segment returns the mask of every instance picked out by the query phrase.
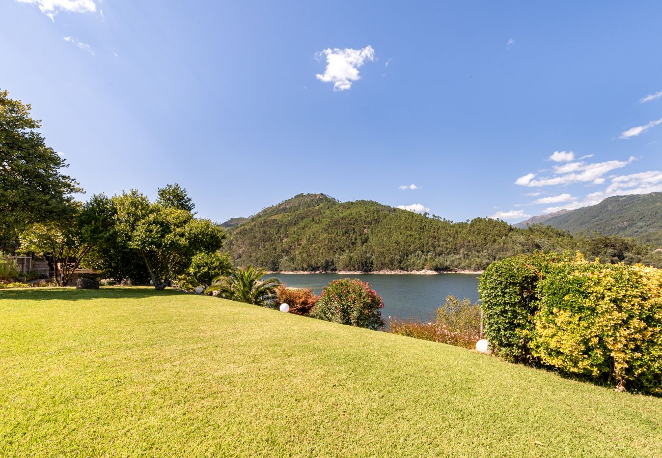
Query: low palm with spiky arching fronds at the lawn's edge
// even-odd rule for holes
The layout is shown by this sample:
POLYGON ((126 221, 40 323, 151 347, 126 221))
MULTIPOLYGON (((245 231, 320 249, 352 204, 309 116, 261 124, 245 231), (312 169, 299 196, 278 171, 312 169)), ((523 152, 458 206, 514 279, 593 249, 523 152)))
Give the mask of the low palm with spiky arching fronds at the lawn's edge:
POLYGON ((247 304, 268 305, 276 298, 276 288, 281 281, 276 278, 261 280, 265 273, 265 269, 256 269, 252 265, 244 269, 235 267, 232 273, 214 278, 207 293, 218 291, 222 298, 247 304))

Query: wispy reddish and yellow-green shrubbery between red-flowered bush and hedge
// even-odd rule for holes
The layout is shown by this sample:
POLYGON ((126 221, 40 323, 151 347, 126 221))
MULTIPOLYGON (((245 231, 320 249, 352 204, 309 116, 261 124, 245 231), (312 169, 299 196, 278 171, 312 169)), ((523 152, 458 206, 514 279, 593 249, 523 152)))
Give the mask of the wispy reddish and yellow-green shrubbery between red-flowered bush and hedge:
POLYGON ((420 320, 398 320, 389 322, 389 332, 416 339, 432 340, 458 347, 473 348, 481 338, 481 309, 465 298, 459 300, 449 295, 446 304, 434 312, 434 318, 422 323, 420 320))

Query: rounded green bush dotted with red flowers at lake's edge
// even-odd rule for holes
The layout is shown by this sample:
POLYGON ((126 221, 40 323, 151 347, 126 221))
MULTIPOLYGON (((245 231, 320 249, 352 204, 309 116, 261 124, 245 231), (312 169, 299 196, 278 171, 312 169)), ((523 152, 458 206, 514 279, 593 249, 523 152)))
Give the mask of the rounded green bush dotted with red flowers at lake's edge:
POLYGON ((334 323, 377 330, 384 326, 384 302, 369 283, 359 279, 334 280, 322 291, 310 316, 334 323))

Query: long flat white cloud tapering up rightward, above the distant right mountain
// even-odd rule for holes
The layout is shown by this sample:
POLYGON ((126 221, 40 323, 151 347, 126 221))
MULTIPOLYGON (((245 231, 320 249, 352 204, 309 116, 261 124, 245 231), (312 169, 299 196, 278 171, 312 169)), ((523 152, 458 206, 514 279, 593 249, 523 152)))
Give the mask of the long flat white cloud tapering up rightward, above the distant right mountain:
POLYGON ((636 158, 630 157, 627 161, 569 162, 554 166, 556 176, 534 179, 536 174, 528 173, 523 177, 519 177, 515 184, 528 187, 567 185, 569 183, 593 183, 598 185, 604 183, 603 175, 614 169, 625 167, 634 160, 636 158))

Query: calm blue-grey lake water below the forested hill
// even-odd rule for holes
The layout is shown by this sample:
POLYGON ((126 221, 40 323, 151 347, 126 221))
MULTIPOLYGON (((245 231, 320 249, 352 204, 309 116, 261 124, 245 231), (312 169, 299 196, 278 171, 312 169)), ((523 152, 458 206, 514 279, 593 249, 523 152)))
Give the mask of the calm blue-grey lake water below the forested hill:
POLYGON ((428 319, 428 313, 443 305, 446 296, 453 295, 469 298, 472 302, 478 300, 477 274, 444 273, 440 275, 386 275, 361 274, 337 275, 334 273, 311 274, 273 274, 267 278, 276 277, 289 287, 311 288, 315 294, 322 293, 330 281, 343 278, 359 278, 372 285, 384 299, 383 318, 397 316, 398 318, 428 319))

